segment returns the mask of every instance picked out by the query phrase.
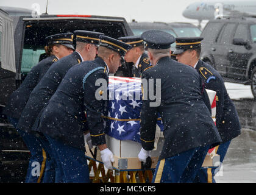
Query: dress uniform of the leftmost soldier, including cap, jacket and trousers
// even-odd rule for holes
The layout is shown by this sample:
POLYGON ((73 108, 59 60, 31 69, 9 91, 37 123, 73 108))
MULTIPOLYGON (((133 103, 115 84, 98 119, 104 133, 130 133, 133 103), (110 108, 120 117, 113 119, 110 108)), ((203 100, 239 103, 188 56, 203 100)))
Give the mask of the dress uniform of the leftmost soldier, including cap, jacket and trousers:
MULTIPOLYGON (((46 44, 51 45, 51 40, 53 37, 67 38, 71 35, 72 34, 57 34, 52 35, 50 37, 46 37, 46 44)), ((68 48, 74 49, 72 41, 65 41, 65 43, 62 44, 68 48)), ((4 113, 5 115, 7 115, 9 121, 13 124, 14 127, 17 126, 17 123, 21 118, 21 113, 23 112, 24 107, 27 104, 31 91, 34 90, 35 86, 44 76, 46 71, 48 71, 52 63, 57 62, 57 60, 58 58, 55 57, 55 55, 50 55, 46 59, 41 60, 40 63, 38 63, 30 70, 29 74, 27 74, 26 78, 24 79, 23 83, 21 83, 20 87, 16 91, 14 91, 10 96, 10 100, 7 106, 5 107, 4 113)), ((24 132, 19 128, 16 128, 16 130, 18 130, 18 132, 20 133, 21 137, 23 138, 24 142, 26 143, 26 146, 28 147, 31 153, 31 157, 29 160, 29 168, 27 169, 27 176, 25 182, 40 182, 40 180, 43 180, 43 182, 51 181, 51 179, 49 178, 49 175, 52 174, 51 171, 45 172, 43 179, 41 179, 41 177, 38 176, 38 174, 32 176, 31 172, 33 169, 33 162, 37 161, 38 163, 40 163, 40 166, 44 166, 42 155, 44 154, 44 151, 42 151, 41 147, 37 144, 37 138, 34 135, 32 135, 31 133, 24 132)), ((49 161, 46 162, 49 163, 49 161)))

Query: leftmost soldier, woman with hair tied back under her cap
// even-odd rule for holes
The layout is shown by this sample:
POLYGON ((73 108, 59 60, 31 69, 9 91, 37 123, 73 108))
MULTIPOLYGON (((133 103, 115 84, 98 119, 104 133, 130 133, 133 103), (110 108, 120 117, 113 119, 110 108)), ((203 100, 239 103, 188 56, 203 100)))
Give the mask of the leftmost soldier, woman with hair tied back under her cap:
MULTIPOLYGON (((71 39, 73 34, 71 33, 64 33, 64 34, 56 34, 46 37, 46 46, 44 47, 46 54, 48 57, 34 66, 31 71, 27 74, 26 78, 24 79, 23 83, 21 83, 20 87, 12 93, 10 96, 9 102, 5 107, 4 113, 9 118, 9 121, 16 127, 20 117, 21 112, 23 111, 31 91, 35 88, 37 83, 41 80, 44 76, 48 68, 52 65, 52 63, 57 62, 58 59, 62 59, 66 55, 69 55, 73 52, 73 40, 71 39), (52 40, 61 40, 59 43, 53 43, 52 40), (66 40, 68 39, 68 40, 66 40)), ((32 135, 31 133, 27 133, 21 131, 20 129, 16 128, 16 130, 20 133, 21 137, 23 138, 26 146, 30 150, 31 157, 29 160, 29 168, 27 169, 27 176, 26 176, 26 183, 30 182, 40 182, 41 174, 40 171, 38 173, 35 171, 35 174, 31 174, 32 172, 32 163, 38 162, 40 166, 42 166, 43 162, 43 153, 41 147, 37 144, 37 138, 32 135)), ((40 170, 40 169, 39 169, 40 170)), ((49 170, 49 169, 48 169, 49 170)), ((44 177, 42 182, 49 182, 51 181, 51 171, 44 172, 44 177)))

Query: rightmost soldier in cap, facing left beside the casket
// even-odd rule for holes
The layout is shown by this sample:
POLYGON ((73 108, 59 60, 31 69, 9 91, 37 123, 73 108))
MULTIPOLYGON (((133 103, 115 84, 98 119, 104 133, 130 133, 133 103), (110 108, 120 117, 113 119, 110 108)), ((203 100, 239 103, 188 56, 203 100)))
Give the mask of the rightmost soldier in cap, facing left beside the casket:
MULTIPOLYGON (((205 82, 205 88, 216 91, 216 127, 219 130, 223 143, 216 146, 216 154, 220 155, 220 162, 226 155, 230 141, 240 135, 241 126, 235 105, 227 94, 224 80, 211 65, 199 60, 201 54, 202 37, 176 38, 177 60, 185 65, 192 66, 205 82)), ((214 182, 216 168, 201 168, 197 172, 194 182, 214 182)))

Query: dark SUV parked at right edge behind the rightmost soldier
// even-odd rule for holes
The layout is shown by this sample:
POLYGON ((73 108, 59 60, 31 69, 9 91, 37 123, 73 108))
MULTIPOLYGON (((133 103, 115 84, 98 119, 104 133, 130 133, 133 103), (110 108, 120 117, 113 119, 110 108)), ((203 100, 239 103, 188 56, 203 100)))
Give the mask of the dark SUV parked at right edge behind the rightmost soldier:
POLYGON ((251 84, 256 98, 256 18, 210 20, 201 37, 201 59, 212 65, 225 81, 251 84))

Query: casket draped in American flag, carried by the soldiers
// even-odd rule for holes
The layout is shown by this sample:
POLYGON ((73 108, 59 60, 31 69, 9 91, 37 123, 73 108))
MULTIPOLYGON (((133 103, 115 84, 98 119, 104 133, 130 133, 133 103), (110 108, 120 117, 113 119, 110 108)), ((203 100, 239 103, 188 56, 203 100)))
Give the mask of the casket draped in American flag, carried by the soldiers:
MULTIPOLYGON (((113 168, 122 171, 141 170, 141 161, 138 153, 141 150, 140 143, 140 110, 141 110, 141 79, 130 77, 110 77, 108 90, 110 98, 105 110, 105 139, 108 149, 113 152, 115 162, 113 168)), ((216 92, 207 90, 212 104, 212 118, 215 121, 216 92)), ((162 151, 165 138, 163 136, 163 124, 158 118, 155 132, 155 147, 151 152, 151 169, 157 165, 158 157, 162 151)), ((86 156, 102 162, 99 150, 96 156, 93 153, 95 147, 89 150, 87 143, 86 156)), ((215 149, 209 150, 202 166, 218 166, 219 155, 215 149)))

